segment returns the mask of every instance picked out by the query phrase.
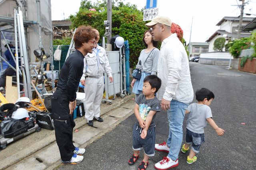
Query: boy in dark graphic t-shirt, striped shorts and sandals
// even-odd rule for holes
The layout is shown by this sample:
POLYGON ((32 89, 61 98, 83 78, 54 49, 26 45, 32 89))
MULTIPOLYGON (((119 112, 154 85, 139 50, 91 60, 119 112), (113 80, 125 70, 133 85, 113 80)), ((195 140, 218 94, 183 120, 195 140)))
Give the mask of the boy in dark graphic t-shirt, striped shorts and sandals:
POLYGON ((134 114, 137 121, 133 128, 132 148, 134 154, 128 164, 133 165, 139 158, 140 149, 144 148, 144 158, 138 166, 138 170, 148 167, 149 156, 155 155, 156 124, 154 119, 156 112, 160 111, 160 102, 154 95, 161 87, 161 79, 156 75, 148 75, 144 78, 142 93, 136 98, 134 114))

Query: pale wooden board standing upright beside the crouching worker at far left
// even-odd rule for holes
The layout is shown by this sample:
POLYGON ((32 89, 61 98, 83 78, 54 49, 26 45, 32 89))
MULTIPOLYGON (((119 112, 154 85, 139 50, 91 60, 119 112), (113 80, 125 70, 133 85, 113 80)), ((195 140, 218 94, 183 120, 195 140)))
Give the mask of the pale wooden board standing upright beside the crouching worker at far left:
POLYGON ((12 86, 12 76, 6 76, 5 98, 14 104, 18 99, 18 87, 12 86))

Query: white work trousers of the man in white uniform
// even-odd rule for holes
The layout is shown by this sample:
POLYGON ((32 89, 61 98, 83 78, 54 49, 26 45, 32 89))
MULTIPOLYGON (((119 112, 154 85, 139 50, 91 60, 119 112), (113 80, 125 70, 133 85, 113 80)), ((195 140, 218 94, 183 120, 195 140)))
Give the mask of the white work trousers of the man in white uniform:
POLYGON ((100 103, 104 91, 104 77, 86 77, 85 93, 85 118, 92 121, 93 117, 100 117, 100 103))

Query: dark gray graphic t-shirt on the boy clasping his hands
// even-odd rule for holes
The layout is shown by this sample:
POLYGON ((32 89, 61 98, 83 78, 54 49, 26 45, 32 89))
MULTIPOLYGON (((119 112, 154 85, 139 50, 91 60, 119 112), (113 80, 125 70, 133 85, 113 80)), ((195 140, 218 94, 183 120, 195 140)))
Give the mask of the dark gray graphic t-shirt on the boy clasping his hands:
MULTIPOLYGON (((160 102, 156 97, 146 100, 146 96, 144 94, 140 94, 139 97, 136 98, 136 103, 139 105, 140 117, 143 120, 146 120, 146 117, 148 116, 148 113, 150 111, 160 112, 160 102)), ((148 128, 156 126, 154 122, 155 117, 156 114, 154 114, 151 124, 148 128)), ((136 121, 136 124, 138 125, 138 127, 140 127, 138 120, 136 121)))

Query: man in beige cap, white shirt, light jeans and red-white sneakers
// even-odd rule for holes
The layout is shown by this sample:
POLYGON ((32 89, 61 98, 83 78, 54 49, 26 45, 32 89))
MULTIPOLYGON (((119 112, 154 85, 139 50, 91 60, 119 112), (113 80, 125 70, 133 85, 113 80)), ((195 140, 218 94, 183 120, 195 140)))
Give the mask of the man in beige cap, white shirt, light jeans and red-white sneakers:
POLYGON ((169 136, 167 143, 155 144, 155 149, 169 153, 155 164, 158 170, 167 170, 178 166, 178 154, 182 144, 182 125, 185 109, 192 102, 192 88, 188 55, 184 45, 171 33, 172 22, 166 16, 156 16, 146 26, 152 30, 154 41, 161 41, 157 75, 162 80, 157 97, 161 108, 167 111, 169 136))

